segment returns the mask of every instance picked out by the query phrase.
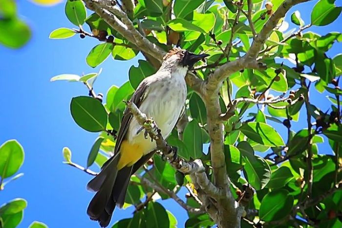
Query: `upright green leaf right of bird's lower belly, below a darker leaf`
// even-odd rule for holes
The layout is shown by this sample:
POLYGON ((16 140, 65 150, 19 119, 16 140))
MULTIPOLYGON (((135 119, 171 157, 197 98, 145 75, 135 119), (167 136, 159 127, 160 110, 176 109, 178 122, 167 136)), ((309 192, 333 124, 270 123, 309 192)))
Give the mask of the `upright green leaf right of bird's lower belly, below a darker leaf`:
POLYGON ((202 131, 198 126, 198 122, 193 119, 187 124, 183 132, 183 141, 186 142, 186 147, 190 157, 199 159, 203 154, 202 131))

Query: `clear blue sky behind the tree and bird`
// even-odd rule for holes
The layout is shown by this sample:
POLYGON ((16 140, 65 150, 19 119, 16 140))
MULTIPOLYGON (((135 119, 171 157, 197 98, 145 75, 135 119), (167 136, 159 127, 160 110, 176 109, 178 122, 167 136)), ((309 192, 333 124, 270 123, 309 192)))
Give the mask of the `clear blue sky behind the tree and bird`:
MULTIPOLYGON (((306 23, 310 22, 309 12, 315 3, 296 7, 302 9, 306 23)), ((337 0, 336 4, 342 5, 342 0, 337 0)), ((64 15, 64 3, 40 7, 21 0, 18 8, 21 18, 31 26, 33 37, 19 50, 0 46, 0 144, 12 138, 22 144, 25 161, 20 171, 25 175, 6 185, 0 192, 0 204, 17 197, 28 201, 20 228, 28 227, 34 220, 44 222, 50 228, 97 228, 98 224, 90 221, 85 213, 93 195, 85 189, 91 177, 62 163, 62 148, 68 146, 73 152, 72 159, 85 165, 97 136, 78 127, 69 111, 70 99, 86 95, 87 91, 80 83, 51 83, 49 80, 57 74, 97 72, 101 67, 103 72, 95 89, 106 94, 111 85, 120 86, 128 80, 128 69, 136 65, 138 58, 126 62, 108 58, 100 67, 92 69, 86 65, 85 57, 98 44, 97 40, 81 40, 78 36, 66 40, 48 39, 49 33, 56 28, 74 27, 64 15)), ((341 23, 340 17, 329 26, 313 27, 312 30, 319 34, 341 32, 341 23)), ((335 44, 333 49, 329 57, 341 52, 342 46, 335 44)), ((330 106, 324 96, 314 99, 323 110, 330 106)), ((328 153, 331 151, 327 146, 322 148, 328 153)), ((184 191, 180 196, 184 196, 184 191)), ((170 200, 164 202, 178 218, 179 227, 184 227, 185 211, 170 200)), ((132 208, 117 209, 112 224, 130 217, 131 212, 132 208)))

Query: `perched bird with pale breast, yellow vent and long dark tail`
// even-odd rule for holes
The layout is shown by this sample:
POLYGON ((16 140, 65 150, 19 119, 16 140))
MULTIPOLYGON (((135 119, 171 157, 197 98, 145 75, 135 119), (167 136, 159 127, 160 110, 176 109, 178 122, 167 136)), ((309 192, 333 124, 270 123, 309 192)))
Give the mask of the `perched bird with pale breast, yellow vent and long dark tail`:
MULTIPOLYGON (((133 93, 130 102, 152 118, 163 138, 167 138, 184 111, 187 97, 185 76, 189 69, 208 54, 193 54, 179 47, 163 58, 158 71, 145 78, 133 93)), ((126 108, 117 134, 114 155, 102 166, 100 173, 87 183, 96 192, 87 214, 101 227, 110 223, 116 206, 122 208, 130 176, 153 156, 155 141, 145 137, 141 126, 126 108)))

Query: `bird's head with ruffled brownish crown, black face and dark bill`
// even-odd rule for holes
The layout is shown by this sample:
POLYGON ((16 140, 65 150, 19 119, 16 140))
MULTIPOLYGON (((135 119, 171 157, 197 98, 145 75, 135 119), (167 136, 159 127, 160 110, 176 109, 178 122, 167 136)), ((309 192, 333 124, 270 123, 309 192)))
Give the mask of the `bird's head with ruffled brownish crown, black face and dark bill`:
POLYGON ((209 56, 208 54, 193 54, 185 49, 175 47, 164 56, 164 67, 175 66, 190 69, 199 60, 209 56))

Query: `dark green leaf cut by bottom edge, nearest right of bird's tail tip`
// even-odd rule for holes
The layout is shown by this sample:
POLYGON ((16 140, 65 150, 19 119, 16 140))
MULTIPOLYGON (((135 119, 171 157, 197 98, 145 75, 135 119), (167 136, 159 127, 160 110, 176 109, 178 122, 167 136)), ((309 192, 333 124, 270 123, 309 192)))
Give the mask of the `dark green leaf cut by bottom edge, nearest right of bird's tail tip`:
POLYGON ((170 228, 168 213, 164 206, 157 202, 149 202, 146 213, 146 221, 149 227, 153 228, 170 228))

